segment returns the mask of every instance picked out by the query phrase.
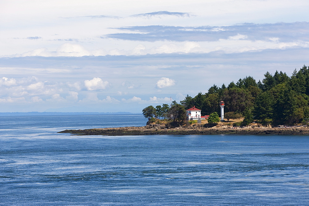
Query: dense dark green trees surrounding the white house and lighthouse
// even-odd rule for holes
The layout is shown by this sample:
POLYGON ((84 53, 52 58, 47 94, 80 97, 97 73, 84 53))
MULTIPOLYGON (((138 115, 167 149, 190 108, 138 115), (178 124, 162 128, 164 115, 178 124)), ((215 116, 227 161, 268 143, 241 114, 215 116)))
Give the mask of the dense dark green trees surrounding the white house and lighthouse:
POLYGON ((264 77, 258 82, 252 76, 246 76, 227 86, 214 84, 207 93, 200 92, 195 97, 187 95, 180 104, 174 101, 171 107, 167 104, 157 106, 152 117, 171 118, 171 108, 175 110, 176 105, 182 114, 175 121, 185 120, 186 109, 193 106, 201 109, 203 116, 220 113, 219 102, 224 101, 227 116, 231 119, 243 116, 244 125, 252 121, 262 125, 305 123, 305 118, 309 118, 309 68, 304 65, 295 69, 292 76, 276 71, 274 75, 266 72, 264 77))

